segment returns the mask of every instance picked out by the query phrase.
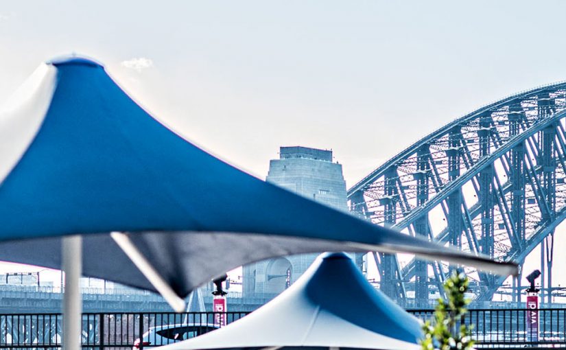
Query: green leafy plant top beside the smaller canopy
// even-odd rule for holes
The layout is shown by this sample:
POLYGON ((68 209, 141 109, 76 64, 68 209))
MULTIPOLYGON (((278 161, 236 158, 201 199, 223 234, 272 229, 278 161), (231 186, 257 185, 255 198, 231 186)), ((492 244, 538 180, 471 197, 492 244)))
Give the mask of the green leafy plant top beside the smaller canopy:
POLYGON ((454 272, 445 282, 447 300, 438 299, 432 322, 427 320, 423 325, 423 350, 472 349, 474 340, 471 338, 471 328, 461 322, 470 303, 470 300, 464 297, 468 285, 468 277, 463 272, 454 272), (457 327, 458 324, 460 327, 457 327))

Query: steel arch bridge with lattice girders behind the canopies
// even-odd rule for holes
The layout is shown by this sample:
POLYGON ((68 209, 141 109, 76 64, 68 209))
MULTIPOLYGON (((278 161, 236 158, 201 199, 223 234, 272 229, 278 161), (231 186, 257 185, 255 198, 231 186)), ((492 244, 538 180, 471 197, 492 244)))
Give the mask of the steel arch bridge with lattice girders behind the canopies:
MULTIPOLYGON (((394 156, 349 189, 349 205, 375 224, 501 261, 522 264, 541 246, 543 280, 552 287, 554 229, 566 218, 565 129, 566 82, 511 95, 394 156)), ((426 305, 432 290, 442 293, 445 275, 458 268, 373 257, 381 290, 405 301, 414 288, 416 305, 426 305)), ((477 301, 491 300, 505 281, 471 275, 477 301)), ((512 279, 514 301, 520 288, 521 278, 512 279)))

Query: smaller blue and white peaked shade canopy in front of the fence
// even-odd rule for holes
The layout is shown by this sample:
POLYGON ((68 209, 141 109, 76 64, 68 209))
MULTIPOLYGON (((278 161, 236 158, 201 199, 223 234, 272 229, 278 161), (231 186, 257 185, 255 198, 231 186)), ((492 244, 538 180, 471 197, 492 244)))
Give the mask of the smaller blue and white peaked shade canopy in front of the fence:
POLYGON ((376 290, 344 253, 323 254, 289 289, 230 325, 164 350, 421 349, 421 323, 376 290))

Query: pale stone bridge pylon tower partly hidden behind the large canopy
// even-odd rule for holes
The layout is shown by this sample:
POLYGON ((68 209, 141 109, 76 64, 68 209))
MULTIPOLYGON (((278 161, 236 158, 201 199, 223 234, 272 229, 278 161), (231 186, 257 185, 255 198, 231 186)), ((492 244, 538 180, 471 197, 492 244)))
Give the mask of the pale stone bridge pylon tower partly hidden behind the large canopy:
MULTIPOLYGON (((348 211, 342 165, 332 161, 332 151, 281 147, 279 159, 270 161, 267 181, 335 209, 348 211)), ((316 257, 317 254, 294 255, 244 266, 244 299, 283 292, 303 275, 316 257)))

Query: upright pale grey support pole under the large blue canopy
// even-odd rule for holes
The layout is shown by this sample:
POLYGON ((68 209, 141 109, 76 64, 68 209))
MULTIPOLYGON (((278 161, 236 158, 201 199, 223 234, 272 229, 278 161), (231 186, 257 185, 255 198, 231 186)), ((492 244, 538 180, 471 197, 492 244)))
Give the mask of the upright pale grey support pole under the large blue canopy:
POLYGON ((82 336, 82 237, 62 238, 62 270, 65 272, 63 294, 63 350, 80 350, 82 336))

